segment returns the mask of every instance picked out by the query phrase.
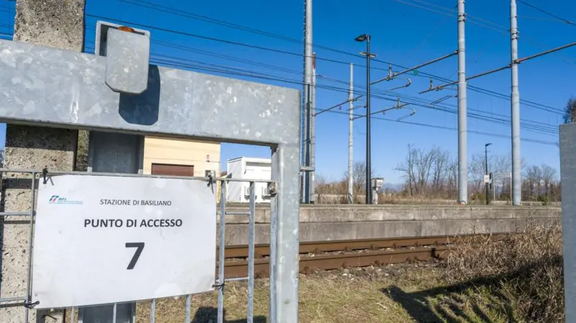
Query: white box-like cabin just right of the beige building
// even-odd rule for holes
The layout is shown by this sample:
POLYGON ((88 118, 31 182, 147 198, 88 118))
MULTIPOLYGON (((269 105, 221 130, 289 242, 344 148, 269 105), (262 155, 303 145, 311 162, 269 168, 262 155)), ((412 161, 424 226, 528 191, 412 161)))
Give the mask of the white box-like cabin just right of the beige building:
MULTIPOLYGON (((232 179, 272 179, 272 159, 238 157, 228 159, 226 177, 232 179)), ((254 183, 256 203, 270 203, 267 183, 254 183)), ((231 203, 250 202, 250 182, 229 181, 226 190, 226 201, 231 203)))

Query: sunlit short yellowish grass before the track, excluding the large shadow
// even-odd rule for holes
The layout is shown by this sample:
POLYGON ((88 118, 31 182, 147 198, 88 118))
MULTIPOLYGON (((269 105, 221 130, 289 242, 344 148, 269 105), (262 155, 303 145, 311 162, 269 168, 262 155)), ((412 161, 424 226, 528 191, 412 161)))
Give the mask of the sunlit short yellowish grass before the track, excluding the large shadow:
MULTIPOLYGON (((379 289, 381 284, 365 279, 346 277, 329 279, 300 277, 300 322, 302 323, 348 323, 348 322, 409 322, 379 289), (392 315, 390 315, 392 313, 392 315)), ((248 291, 245 283, 226 286, 224 307, 226 322, 245 322, 248 291)), ((267 279, 256 281, 254 291, 254 322, 267 322, 267 279)), ((184 322, 184 298, 160 300, 156 303, 156 322, 184 322)), ((216 322, 217 294, 193 298, 192 322, 216 322)), ((137 309, 136 322, 149 322, 149 303, 141 303, 137 309)))

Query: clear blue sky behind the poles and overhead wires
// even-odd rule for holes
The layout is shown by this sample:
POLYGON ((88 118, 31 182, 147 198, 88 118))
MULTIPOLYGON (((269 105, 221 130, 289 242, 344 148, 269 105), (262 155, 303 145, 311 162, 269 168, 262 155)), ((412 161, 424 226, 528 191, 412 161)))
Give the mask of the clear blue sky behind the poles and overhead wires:
MULTIPOLYGON (((207 16, 226 23, 259 29, 267 33, 302 40, 303 1, 175 1, 175 0, 86 0, 86 51, 93 52, 95 23, 97 20, 112 22, 130 22, 134 27, 149 29, 152 36, 152 58, 160 65, 172 65, 178 68, 218 68, 228 66, 265 74, 272 79, 288 79, 291 83, 270 79, 254 79, 239 75, 230 75, 242 79, 252 79, 263 83, 273 83, 301 89, 302 56, 279 53, 302 54, 302 43, 272 38, 251 33, 239 28, 226 27, 217 23, 202 21, 187 14, 207 16), (141 5, 134 5, 140 3, 141 5), (152 3, 152 5, 147 5, 152 3), (146 8, 149 6, 149 8, 146 8), (176 14, 163 12, 164 8, 176 10, 176 14), (142 27, 160 27, 173 33, 142 27), (265 51, 226 44, 186 34, 221 38, 278 50, 265 51), (173 46, 180 46, 180 49, 173 46), (185 47, 185 48, 182 48, 185 47), (239 62, 239 60, 243 60, 239 62), (250 61, 250 62, 247 62, 250 61), (213 64, 213 65, 206 65, 213 64), (267 64, 267 65, 263 65, 267 64), (271 67, 272 66, 272 67, 271 67)), ((371 51, 377 60, 392 62, 401 66, 414 66, 433 60, 455 51, 457 48, 457 23, 455 13, 435 8, 427 3, 444 8, 455 8, 456 1, 435 0, 357 0, 329 1, 316 0, 313 6, 313 42, 317 59, 316 107, 331 107, 346 100, 349 66, 346 63, 364 64, 363 57, 346 55, 330 51, 326 47, 348 53, 363 51, 364 44, 354 41, 355 36, 368 33, 372 36, 371 51), (446 14, 431 12, 409 5, 431 8, 446 14), (329 62, 329 60, 339 61, 329 62)), ((544 10, 563 18, 576 21, 576 3, 560 0, 531 0, 544 10)), ((3 0, 0 5, 0 33, 11 34, 14 20, 14 2, 3 0)), ((485 70, 498 68, 509 62, 509 3, 501 0, 467 1, 468 23, 466 25, 467 73, 475 75, 485 70)), ((558 47, 576 40, 576 26, 567 25, 542 14, 523 3, 518 3, 518 27, 520 29, 519 55, 525 57, 533 53, 558 47)), ((1 36, 1 35, 0 35, 1 36)), ((385 77, 387 64, 373 62, 372 81, 385 77), (377 70, 381 68, 382 70, 377 70)), ((226 68, 227 69, 227 68, 226 68)), ((401 68, 394 67, 399 71, 401 68)), ((202 70, 201 70, 202 71, 202 70)), ((215 73, 214 70, 204 70, 215 73)), ((355 88, 363 90, 365 86, 365 68, 355 67, 355 88)), ((245 72, 241 72, 245 73, 245 72)), ((422 73, 431 73, 439 77, 455 79, 457 77, 457 58, 447 60, 420 69, 422 73)), ((218 73, 215 73, 218 74, 218 73)), ((521 152, 527 164, 549 164, 559 167, 559 149, 557 125, 562 120, 560 110, 571 95, 576 96, 574 75, 576 75, 576 48, 565 49, 520 64, 520 98, 544 107, 523 103, 520 105, 522 124, 528 127, 544 127, 544 133, 532 129, 521 129, 523 140, 537 140, 550 144, 523 141, 521 152)), ((411 75, 409 88, 388 92, 390 97, 400 95, 401 100, 430 103, 446 95, 456 94, 455 90, 443 90, 418 94, 428 88, 428 77, 411 75)), ((382 82, 372 87, 375 96, 383 96, 384 91, 403 84, 403 81, 382 82)), ((434 85, 439 84, 434 81, 434 85)), ((504 94, 509 98, 510 73, 503 70, 493 75, 468 82, 485 90, 504 94)), ((372 98, 372 111, 389 107, 390 101, 372 98)), ((374 119, 372 122, 372 168, 386 181, 398 183, 400 175, 394 167, 403 160, 407 144, 420 148, 440 146, 457 154, 456 98, 448 99, 437 105, 436 109, 413 106, 416 114, 404 119, 406 122, 392 122, 374 119), (441 111, 439 111, 440 109, 441 111), (419 124, 419 125, 415 125, 419 124), (422 125, 432 125, 425 127, 422 125), (441 129, 439 129, 439 127, 441 129), (448 128, 448 129, 446 129, 448 128)), ((345 112, 347 106, 336 112, 345 112)), ((497 95, 485 95, 468 90, 469 114, 509 120, 510 102, 497 95)), ((358 110, 362 112, 362 109, 358 110)), ((392 111, 383 118, 396 120, 409 113, 409 109, 392 111)), ((346 170, 348 159, 348 118, 339 113, 324 113, 317 116, 317 172, 338 179, 346 170)), ((365 157, 365 119, 355 122, 355 161, 365 157)), ((3 142, 3 129, 0 129, 3 142)), ((477 132, 489 132, 509 137, 509 124, 468 118, 468 155, 483 153, 486 142, 492 142, 492 153, 507 154, 511 148, 509 138, 483 135, 477 132)), ((241 155, 268 157, 269 149, 264 147, 224 144, 221 159, 226 167, 226 159, 241 155)))

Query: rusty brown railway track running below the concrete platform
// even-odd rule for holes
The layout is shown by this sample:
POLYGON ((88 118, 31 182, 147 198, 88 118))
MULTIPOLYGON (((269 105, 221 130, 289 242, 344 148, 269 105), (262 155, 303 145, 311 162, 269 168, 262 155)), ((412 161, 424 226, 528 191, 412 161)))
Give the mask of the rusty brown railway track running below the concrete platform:
MULTIPOLYGON (((334 270, 346 267, 365 267, 443 259, 449 246, 469 237, 403 237, 371 240, 341 240, 302 242, 300 244, 300 272, 334 270)), ((218 252, 218 250, 217 250, 218 252)), ((270 248, 268 244, 254 246, 254 273, 256 277, 269 275, 270 248)), ((227 246, 224 250, 226 278, 248 275, 248 246, 227 246)))

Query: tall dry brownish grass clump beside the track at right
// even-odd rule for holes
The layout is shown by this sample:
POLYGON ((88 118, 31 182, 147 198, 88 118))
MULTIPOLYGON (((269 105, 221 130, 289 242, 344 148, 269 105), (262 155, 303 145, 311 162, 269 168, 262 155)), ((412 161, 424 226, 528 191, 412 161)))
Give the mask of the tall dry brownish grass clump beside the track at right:
POLYGON ((522 322, 564 322, 562 229, 531 224, 506 237, 474 237, 459 243, 443 278, 495 297, 522 322))

